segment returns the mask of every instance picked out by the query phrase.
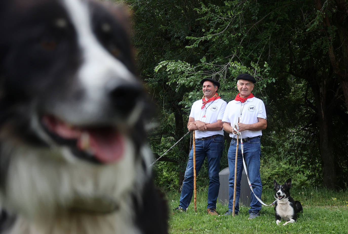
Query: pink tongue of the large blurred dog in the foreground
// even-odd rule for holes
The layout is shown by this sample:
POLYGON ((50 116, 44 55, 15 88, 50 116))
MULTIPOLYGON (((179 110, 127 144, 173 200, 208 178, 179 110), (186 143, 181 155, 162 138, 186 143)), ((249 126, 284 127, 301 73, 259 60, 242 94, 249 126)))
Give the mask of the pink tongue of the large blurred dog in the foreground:
POLYGON ((89 144, 95 157, 103 163, 119 160, 124 152, 124 140, 116 131, 88 131, 89 144))

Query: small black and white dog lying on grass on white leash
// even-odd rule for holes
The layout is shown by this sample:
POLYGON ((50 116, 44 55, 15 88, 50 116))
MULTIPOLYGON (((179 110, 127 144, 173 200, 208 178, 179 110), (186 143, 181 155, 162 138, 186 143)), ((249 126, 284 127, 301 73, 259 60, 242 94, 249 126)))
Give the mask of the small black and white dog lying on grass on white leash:
POLYGON ((291 178, 280 185, 276 180, 273 181, 274 184, 274 197, 277 199, 274 210, 276 212, 276 223, 279 225, 282 219, 286 220, 283 225, 288 223, 293 223, 297 219, 297 213, 302 211, 302 205, 299 201, 294 201, 290 196, 291 188, 291 178))

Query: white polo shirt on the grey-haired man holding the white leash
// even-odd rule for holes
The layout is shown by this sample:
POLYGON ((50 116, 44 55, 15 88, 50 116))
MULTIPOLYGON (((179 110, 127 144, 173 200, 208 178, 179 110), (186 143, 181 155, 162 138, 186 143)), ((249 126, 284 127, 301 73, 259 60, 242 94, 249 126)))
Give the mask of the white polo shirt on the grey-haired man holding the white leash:
MULTIPOLYGON (((228 122, 233 126, 235 123, 254 124, 258 122, 258 117, 267 119, 266 109, 263 101, 258 98, 248 98, 244 103, 236 100, 230 101, 225 110, 225 114, 222 118, 222 122, 228 122)), ((261 136, 262 131, 249 131, 245 130, 242 133, 242 137, 255 137, 261 136)), ((230 133, 230 137, 237 138, 237 135, 230 133)))

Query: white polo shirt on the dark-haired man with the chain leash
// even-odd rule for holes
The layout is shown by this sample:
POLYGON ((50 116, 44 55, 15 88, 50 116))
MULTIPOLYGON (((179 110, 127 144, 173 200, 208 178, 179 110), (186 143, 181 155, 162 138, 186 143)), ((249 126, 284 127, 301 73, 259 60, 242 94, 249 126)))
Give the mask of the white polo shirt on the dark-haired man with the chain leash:
MULTIPOLYGON (((195 120, 200 120, 206 123, 215 123, 217 120, 222 120, 223 114, 225 112, 225 108, 227 102, 222 100, 221 98, 216 99, 214 101, 208 102, 205 107, 202 108, 202 99, 195 101, 191 107, 190 116, 195 118, 195 120), (205 115, 205 117, 203 117, 205 115)), ((202 138, 207 136, 212 136, 220 134, 223 135, 223 130, 220 131, 199 131, 195 130, 195 138, 202 138)))

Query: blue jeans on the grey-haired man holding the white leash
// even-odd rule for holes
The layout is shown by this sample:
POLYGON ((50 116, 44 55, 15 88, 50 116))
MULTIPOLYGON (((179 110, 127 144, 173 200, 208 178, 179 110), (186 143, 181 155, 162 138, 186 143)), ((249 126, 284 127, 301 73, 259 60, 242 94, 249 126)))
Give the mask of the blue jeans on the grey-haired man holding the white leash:
MULTIPOLYGON (((227 153, 228 168, 230 175, 229 182, 229 203, 228 210, 232 211, 233 208, 233 193, 235 182, 235 162, 236 162, 236 139, 231 140, 230 148, 227 153)), ((250 183, 253 187, 254 193, 261 199, 262 183, 260 177, 260 155, 261 155, 261 143, 260 136, 253 137, 247 142, 243 141, 244 148, 244 160, 247 167, 247 173, 250 183)), ((238 158, 237 158, 237 184, 236 184, 236 203, 235 212, 239 212, 239 196, 240 196, 240 179, 242 179, 243 172, 243 160, 242 151, 240 147, 240 141, 238 145, 238 158)), ((250 212, 258 213, 261 210, 261 203, 255 198, 254 194, 250 190, 250 212)))

